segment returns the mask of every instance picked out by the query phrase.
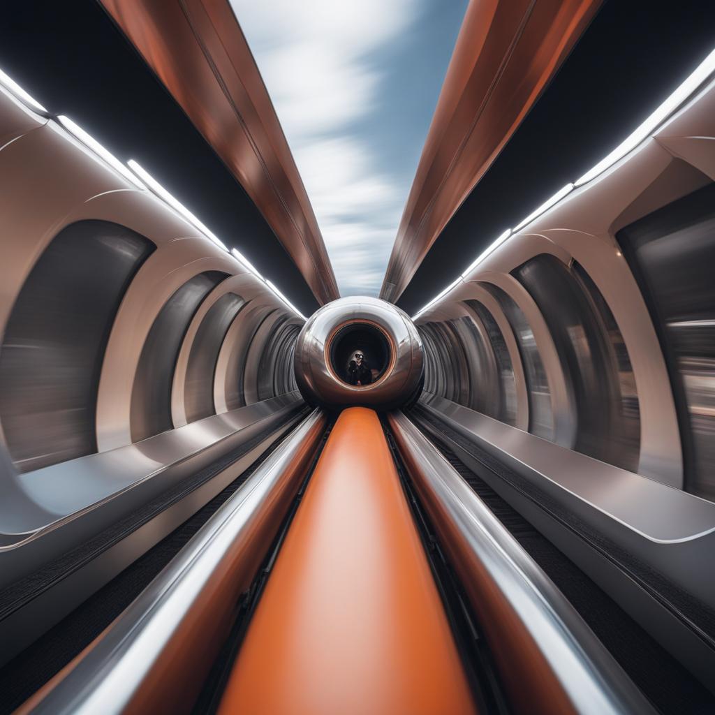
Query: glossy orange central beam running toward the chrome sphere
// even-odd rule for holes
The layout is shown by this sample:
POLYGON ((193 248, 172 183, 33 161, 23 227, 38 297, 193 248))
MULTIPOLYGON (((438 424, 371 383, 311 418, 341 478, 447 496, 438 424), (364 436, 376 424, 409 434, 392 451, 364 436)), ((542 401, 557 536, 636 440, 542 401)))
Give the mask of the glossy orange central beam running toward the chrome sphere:
POLYGON ((476 712, 373 410, 338 418, 219 712, 476 712))

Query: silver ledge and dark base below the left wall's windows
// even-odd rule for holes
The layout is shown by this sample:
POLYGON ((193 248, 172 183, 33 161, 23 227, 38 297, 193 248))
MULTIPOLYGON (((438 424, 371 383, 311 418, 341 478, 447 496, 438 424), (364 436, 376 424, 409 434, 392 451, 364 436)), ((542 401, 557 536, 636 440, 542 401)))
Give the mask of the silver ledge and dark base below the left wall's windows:
POLYGON ((19 478, 4 470, 0 664, 235 480, 295 423, 304 405, 298 393, 289 393, 19 478), (212 469, 232 452, 234 460, 212 469), (160 503, 160 511, 147 512, 152 503, 160 503), (122 530, 112 531, 117 523, 122 530), (56 560, 64 560, 66 573, 54 568, 56 560))

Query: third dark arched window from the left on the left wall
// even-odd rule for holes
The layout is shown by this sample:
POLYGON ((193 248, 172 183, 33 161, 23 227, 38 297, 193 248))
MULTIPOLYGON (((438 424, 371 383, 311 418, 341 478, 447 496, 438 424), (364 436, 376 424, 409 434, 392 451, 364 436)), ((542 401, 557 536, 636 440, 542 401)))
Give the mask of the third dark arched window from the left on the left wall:
MULTIPOLYGON (((214 375, 222 342, 232 320, 245 305, 235 293, 227 293, 204 316, 189 352, 184 382, 187 423, 215 414, 214 375)), ((272 395, 270 395, 272 397, 272 395)))

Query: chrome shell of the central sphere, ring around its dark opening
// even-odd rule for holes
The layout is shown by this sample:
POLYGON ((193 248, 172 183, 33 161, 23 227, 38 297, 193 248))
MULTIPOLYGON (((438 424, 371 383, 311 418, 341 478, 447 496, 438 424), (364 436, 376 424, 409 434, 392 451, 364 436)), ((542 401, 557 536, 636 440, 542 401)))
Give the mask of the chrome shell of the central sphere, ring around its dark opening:
POLYGON ((327 407, 396 407, 413 398, 423 375, 422 342, 413 322, 398 307, 365 296, 340 298, 315 312, 295 346, 295 378, 302 395, 327 407), (383 375, 365 386, 349 385, 330 360, 332 340, 347 325, 370 325, 385 336, 390 355, 383 375))

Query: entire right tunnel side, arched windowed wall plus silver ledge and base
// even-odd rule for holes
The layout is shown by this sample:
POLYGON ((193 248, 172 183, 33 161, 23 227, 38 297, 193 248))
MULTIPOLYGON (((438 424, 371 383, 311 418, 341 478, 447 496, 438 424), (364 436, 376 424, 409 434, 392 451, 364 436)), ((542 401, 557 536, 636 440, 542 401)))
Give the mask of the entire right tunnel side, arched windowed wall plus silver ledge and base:
POLYGON ((715 82, 693 89, 415 323, 425 428, 711 684, 715 82))

